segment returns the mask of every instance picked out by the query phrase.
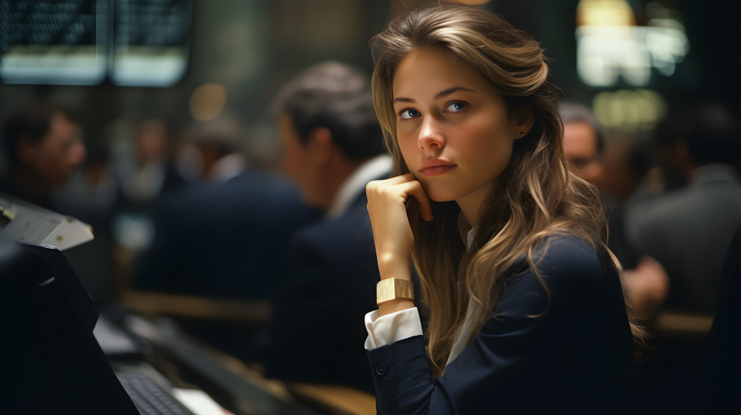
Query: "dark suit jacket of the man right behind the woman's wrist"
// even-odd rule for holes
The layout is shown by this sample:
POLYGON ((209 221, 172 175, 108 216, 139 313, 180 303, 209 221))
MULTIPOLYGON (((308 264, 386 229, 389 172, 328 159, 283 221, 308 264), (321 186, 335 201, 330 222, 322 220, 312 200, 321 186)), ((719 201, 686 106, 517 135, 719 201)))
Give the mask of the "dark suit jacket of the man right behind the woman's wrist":
POLYGON ((379 281, 365 192, 343 215, 302 229, 274 301, 263 362, 269 377, 373 390, 362 348, 379 281))

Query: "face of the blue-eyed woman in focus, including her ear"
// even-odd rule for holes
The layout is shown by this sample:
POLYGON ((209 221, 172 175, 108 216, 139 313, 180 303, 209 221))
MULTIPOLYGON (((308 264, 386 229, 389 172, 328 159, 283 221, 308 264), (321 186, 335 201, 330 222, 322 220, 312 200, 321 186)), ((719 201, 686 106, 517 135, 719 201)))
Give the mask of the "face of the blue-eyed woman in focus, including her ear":
POLYGON ((404 161, 436 201, 491 189, 509 163, 514 140, 532 125, 511 118, 479 72, 436 50, 402 58, 393 98, 404 161))

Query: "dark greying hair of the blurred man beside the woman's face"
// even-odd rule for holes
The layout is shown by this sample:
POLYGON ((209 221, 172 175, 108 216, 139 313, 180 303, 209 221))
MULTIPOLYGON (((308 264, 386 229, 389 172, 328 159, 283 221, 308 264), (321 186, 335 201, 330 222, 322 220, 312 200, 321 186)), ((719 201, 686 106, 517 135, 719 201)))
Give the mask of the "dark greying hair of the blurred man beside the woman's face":
POLYGON ((384 151, 370 85, 348 65, 318 64, 283 87, 274 109, 290 115, 303 144, 312 129, 324 126, 347 158, 362 160, 384 151))

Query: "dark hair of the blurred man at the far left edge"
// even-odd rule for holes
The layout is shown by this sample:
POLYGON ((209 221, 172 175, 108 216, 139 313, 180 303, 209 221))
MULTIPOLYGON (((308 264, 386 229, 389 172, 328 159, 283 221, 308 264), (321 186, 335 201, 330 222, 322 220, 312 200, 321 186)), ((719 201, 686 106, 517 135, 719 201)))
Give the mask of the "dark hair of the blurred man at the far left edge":
POLYGON ((12 163, 18 162, 18 141, 21 138, 33 143, 41 141, 49 133, 51 118, 57 112, 74 123, 79 122, 70 109, 52 101, 34 101, 10 114, 2 129, 2 146, 12 163))

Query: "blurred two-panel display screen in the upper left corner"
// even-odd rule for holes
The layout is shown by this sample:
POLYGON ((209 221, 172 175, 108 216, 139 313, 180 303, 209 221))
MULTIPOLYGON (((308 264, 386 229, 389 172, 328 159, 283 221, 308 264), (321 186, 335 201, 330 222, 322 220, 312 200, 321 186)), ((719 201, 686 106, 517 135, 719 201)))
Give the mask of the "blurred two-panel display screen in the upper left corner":
POLYGON ((7 84, 169 87, 187 69, 190 0, 0 0, 7 84))

